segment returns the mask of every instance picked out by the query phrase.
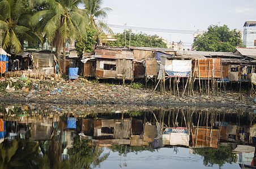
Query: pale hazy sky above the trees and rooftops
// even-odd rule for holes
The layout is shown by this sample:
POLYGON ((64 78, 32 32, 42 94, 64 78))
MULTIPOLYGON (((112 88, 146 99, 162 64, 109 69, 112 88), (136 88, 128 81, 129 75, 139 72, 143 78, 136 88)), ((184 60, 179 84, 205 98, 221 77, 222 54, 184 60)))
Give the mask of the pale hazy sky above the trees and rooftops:
POLYGON ((242 30, 245 21, 256 21, 255 0, 103 0, 102 7, 112 8, 104 21, 114 33, 131 29, 133 33, 156 34, 168 42, 181 41, 188 48, 198 29, 225 24, 242 30), (148 28, 150 32, 145 31, 148 28))

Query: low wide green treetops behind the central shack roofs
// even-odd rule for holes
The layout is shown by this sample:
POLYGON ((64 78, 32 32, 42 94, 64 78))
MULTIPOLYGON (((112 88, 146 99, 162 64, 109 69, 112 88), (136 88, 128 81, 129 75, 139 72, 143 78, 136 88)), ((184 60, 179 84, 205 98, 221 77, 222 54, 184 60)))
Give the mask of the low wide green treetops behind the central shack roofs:
POLYGON ((108 44, 109 46, 125 46, 126 41, 126 45, 129 45, 130 43, 130 46, 167 48, 167 45, 163 42, 163 39, 158 35, 147 35, 146 33, 143 34, 142 32, 135 34, 125 30, 123 33, 114 35, 114 38, 116 38, 117 41, 110 42, 108 44))

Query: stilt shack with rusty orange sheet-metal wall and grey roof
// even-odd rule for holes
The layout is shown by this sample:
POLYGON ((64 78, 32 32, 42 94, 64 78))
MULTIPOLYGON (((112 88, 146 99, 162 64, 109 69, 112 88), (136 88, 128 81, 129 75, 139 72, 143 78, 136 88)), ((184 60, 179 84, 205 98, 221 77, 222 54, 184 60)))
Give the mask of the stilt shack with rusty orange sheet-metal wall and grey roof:
POLYGON ((246 60, 245 56, 237 53, 186 51, 184 55, 192 58, 193 56, 202 57, 193 59, 192 72, 193 77, 196 78, 223 78, 224 81, 238 81, 241 80, 244 65, 249 67, 248 71, 251 73, 252 66, 250 64, 252 63, 246 60))

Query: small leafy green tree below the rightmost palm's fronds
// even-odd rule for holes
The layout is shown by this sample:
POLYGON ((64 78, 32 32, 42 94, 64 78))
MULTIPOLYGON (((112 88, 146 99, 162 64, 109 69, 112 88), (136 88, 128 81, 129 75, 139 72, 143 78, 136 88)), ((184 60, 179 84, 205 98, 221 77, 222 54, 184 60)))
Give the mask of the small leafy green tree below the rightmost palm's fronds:
POLYGON ((93 46, 96 45, 96 30, 87 28, 87 36, 76 40, 76 51, 82 57, 83 52, 93 52, 93 46))

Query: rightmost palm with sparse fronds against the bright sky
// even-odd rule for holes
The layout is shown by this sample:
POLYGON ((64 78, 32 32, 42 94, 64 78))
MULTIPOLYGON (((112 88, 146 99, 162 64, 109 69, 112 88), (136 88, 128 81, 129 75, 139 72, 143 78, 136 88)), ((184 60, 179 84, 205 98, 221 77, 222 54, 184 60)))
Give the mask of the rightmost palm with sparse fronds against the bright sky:
POLYGON ((107 33, 113 33, 109 26, 100 20, 108 17, 107 12, 112 9, 108 7, 101 8, 102 0, 83 0, 83 2, 89 18, 89 27, 97 30, 98 38, 106 37, 104 30, 107 33))

